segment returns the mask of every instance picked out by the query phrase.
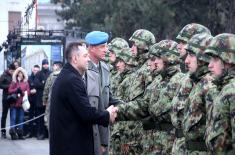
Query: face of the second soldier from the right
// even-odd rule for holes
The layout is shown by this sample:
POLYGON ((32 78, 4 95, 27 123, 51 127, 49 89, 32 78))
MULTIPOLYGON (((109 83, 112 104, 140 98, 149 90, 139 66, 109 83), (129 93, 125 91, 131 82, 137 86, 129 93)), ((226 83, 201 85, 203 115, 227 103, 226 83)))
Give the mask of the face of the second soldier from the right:
POLYGON ((190 73, 195 73, 198 67, 196 55, 192 53, 188 53, 185 59, 185 64, 190 73))

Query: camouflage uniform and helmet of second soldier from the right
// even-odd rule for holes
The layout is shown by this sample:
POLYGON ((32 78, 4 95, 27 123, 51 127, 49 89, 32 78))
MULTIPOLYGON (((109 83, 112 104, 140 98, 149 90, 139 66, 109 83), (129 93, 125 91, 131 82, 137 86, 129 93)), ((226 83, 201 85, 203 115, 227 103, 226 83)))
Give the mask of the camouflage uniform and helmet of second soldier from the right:
POLYGON ((196 72, 190 75, 194 86, 185 105, 183 121, 187 154, 208 154, 204 140, 207 111, 205 97, 212 87, 212 78, 208 74, 209 58, 204 51, 212 38, 206 33, 194 35, 186 47, 189 54, 196 55, 198 64, 196 72))

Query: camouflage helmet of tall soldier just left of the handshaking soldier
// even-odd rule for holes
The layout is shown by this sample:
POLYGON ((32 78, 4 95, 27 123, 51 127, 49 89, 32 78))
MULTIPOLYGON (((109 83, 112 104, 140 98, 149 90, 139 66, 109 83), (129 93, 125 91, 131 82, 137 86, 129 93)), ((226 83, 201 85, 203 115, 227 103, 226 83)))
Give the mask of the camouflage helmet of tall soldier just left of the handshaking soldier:
POLYGON ((145 29, 136 30, 129 40, 134 42, 138 48, 145 50, 148 50, 156 42, 153 33, 145 29))

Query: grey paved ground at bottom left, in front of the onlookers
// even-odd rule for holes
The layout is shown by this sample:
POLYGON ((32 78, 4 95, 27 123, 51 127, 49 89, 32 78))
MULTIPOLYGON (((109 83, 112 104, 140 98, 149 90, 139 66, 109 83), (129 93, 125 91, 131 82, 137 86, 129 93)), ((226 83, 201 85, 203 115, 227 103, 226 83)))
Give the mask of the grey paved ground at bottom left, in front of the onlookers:
MULTIPOLYGON (((2 113, 1 97, 2 92, 0 90, 0 115, 2 113)), ((7 118, 8 126, 9 116, 7 118)), ((0 155, 49 155, 48 139, 39 141, 36 138, 29 138, 12 141, 7 132, 7 139, 0 139, 0 155)))

